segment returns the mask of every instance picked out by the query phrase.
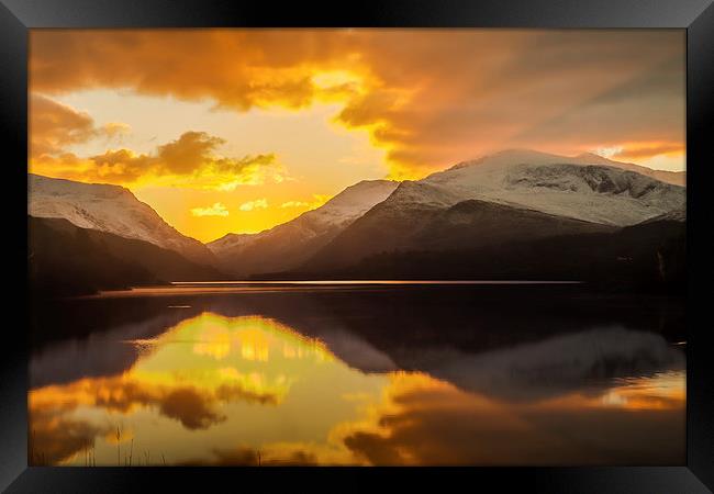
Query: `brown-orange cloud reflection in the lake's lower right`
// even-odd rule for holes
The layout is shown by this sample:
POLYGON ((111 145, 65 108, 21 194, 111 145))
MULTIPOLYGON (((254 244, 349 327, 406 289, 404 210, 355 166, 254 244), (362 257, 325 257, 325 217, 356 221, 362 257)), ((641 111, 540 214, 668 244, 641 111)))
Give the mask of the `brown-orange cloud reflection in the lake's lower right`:
POLYGON ((599 395, 512 405, 414 374, 386 391, 375 425, 342 438, 371 464, 667 464, 684 453, 683 395, 643 400, 633 413, 599 395))

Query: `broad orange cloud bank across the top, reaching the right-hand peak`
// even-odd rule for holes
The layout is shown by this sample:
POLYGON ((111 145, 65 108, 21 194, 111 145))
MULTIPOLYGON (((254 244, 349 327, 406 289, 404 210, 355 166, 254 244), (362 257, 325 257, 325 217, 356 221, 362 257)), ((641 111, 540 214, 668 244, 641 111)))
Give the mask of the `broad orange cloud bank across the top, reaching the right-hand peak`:
POLYGON ((236 111, 336 101, 414 178, 504 147, 683 148, 684 49, 673 30, 42 30, 30 80, 236 111))

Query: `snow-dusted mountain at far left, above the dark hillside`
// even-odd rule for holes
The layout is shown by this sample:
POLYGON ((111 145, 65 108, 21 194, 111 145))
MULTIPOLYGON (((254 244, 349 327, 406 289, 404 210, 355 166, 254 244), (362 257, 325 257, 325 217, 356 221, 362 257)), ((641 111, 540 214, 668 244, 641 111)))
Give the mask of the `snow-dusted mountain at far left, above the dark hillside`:
POLYGON ((80 228, 148 242, 193 262, 216 262, 202 243, 180 234, 123 187, 29 173, 27 194, 27 214, 34 217, 65 218, 80 228))

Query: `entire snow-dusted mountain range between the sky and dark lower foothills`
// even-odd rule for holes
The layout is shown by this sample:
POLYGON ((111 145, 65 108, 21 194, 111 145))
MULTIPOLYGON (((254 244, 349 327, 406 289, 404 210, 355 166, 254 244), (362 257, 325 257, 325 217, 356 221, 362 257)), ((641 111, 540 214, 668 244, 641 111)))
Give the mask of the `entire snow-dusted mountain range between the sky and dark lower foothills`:
MULTIPOLYGON (((462 251, 685 221, 685 189, 594 154, 505 149, 421 180, 362 180, 257 234, 202 244, 120 186, 29 173, 29 214, 168 248, 236 278, 322 272, 390 251, 462 251), (491 246, 491 247, 490 247, 491 246)), ((671 177, 670 177, 671 178, 671 177)))

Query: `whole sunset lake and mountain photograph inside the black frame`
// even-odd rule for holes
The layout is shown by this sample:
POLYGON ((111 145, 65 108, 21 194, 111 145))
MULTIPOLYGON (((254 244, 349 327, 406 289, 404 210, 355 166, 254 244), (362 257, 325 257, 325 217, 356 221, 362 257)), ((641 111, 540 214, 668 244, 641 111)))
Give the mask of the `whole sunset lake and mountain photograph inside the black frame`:
POLYGON ((685 49, 31 30, 29 464, 685 464, 685 49))

